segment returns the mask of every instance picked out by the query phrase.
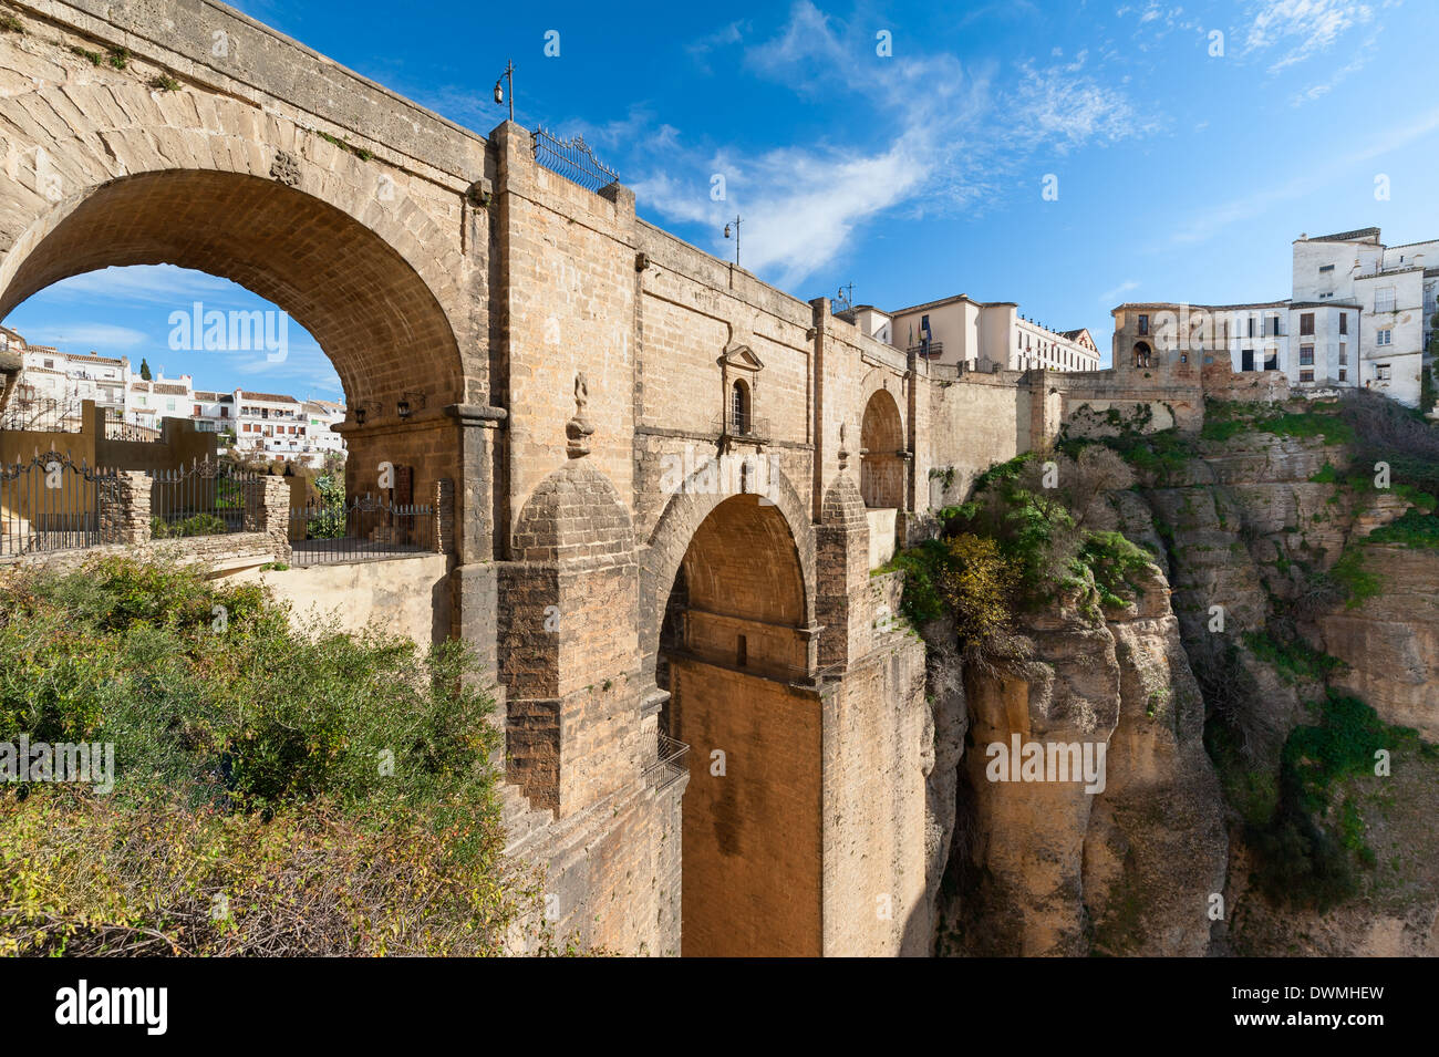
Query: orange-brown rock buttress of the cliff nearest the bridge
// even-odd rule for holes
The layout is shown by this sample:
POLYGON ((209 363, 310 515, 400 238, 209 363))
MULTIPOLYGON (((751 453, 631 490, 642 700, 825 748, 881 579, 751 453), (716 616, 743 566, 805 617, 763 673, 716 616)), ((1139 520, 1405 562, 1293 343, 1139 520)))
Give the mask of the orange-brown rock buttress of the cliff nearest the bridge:
POLYGON ((1040 659, 1035 672, 967 679, 940 952, 1203 953, 1226 838, 1203 702, 1164 578, 1102 621, 1062 604, 1025 631, 1040 659), (987 746, 1010 746, 1016 735, 1104 746, 1102 788, 990 781, 987 746))

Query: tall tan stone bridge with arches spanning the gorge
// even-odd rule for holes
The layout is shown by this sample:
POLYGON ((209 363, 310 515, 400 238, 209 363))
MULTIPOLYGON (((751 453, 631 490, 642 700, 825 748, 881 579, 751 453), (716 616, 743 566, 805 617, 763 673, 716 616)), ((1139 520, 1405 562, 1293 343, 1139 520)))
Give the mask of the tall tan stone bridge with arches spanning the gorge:
POLYGON ((938 377, 223 4, 0 14, 0 318, 111 265, 232 279, 332 360, 353 493, 455 482, 442 633, 495 672, 555 928, 927 952, 924 651, 873 555, 1050 430, 1043 375, 938 377))

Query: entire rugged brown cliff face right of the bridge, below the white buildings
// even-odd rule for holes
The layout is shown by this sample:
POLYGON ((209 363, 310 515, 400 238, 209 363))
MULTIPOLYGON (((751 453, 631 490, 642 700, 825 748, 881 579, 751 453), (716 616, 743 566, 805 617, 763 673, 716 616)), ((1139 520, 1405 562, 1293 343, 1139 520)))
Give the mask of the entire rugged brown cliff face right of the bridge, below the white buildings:
POLYGON ((1120 495, 1124 535, 1160 567, 1131 605, 1026 617, 1039 663, 964 670, 948 695, 950 729, 968 732, 938 841, 938 953, 1439 953, 1439 752, 1423 743, 1439 741, 1439 549, 1364 542, 1410 503, 1337 480, 1341 444, 1240 431, 1197 447, 1120 495), (1347 604, 1333 582, 1354 555, 1377 587, 1347 604), (1327 846, 1353 874, 1343 894, 1289 899, 1298 867, 1274 824, 1311 762, 1294 745, 1334 693, 1377 712, 1390 772, 1335 774, 1312 827, 1285 831, 1305 869, 1330 869, 1314 866, 1327 846), (1206 751, 1206 719, 1210 738, 1240 731, 1238 749, 1219 731, 1206 751), (1102 742, 1105 788, 991 781, 986 748, 1016 733, 1102 742))

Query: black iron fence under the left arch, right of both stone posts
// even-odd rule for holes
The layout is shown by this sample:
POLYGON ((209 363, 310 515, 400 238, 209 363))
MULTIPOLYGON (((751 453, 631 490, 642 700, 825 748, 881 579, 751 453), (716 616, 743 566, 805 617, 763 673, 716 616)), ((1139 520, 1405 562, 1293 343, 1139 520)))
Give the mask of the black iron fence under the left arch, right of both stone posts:
POLYGON ((406 558, 436 549, 433 506, 368 495, 294 508, 289 526, 295 565, 406 558))

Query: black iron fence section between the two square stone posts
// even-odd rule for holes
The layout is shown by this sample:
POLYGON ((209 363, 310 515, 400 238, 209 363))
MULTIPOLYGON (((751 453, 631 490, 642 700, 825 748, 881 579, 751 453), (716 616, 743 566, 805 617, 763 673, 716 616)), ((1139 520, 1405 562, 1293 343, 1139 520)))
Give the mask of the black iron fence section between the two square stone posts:
POLYGON ((216 536, 255 532, 260 522, 263 479, 258 473, 196 459, 178 470, 151 470, 150 535, 216 536))

